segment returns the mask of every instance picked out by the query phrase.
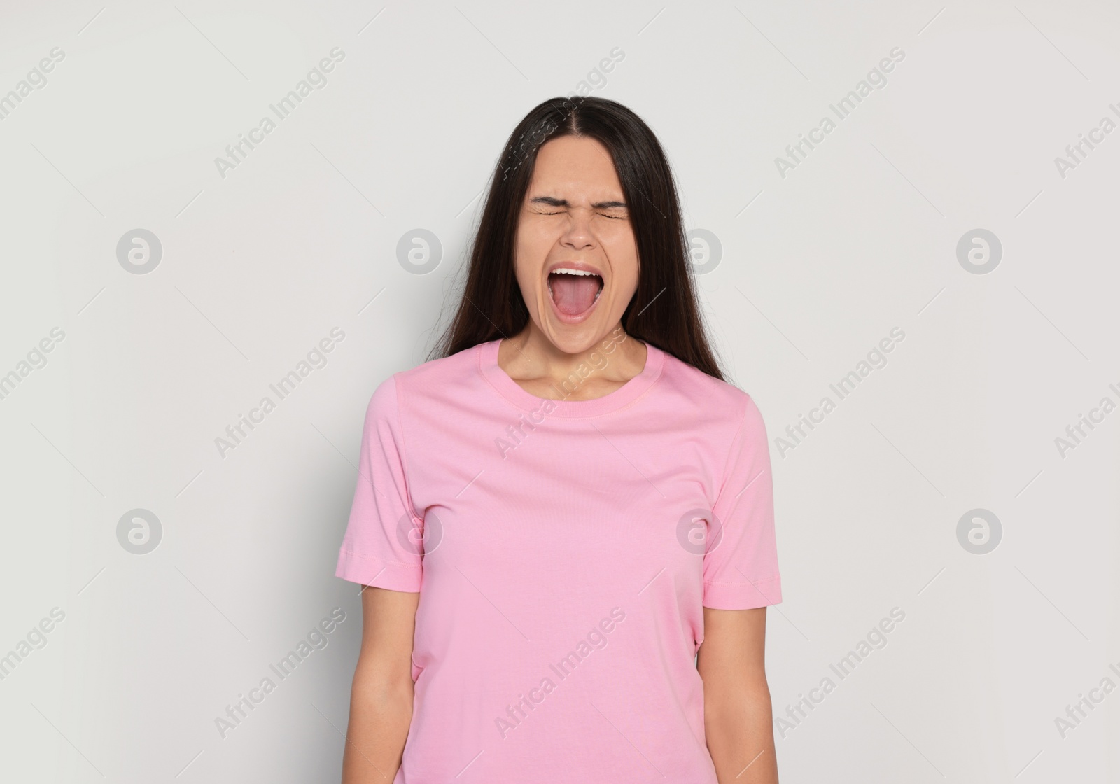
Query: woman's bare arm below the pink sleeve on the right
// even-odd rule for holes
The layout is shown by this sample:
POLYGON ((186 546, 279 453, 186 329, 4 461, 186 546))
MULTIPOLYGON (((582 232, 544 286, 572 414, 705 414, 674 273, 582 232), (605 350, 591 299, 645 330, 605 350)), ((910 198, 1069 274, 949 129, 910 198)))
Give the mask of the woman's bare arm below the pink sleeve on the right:
POLYGON ((708 752, 719 784, 777 784, 766 685, 766 608, 703 608, 697 669, 708 752))

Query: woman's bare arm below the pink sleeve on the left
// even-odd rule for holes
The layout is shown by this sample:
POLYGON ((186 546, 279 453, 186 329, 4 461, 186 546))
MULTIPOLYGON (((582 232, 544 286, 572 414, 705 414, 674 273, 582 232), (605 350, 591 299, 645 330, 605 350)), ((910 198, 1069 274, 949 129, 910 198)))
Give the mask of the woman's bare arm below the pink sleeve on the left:
POLYGON ((420 594, 366 587, 351 688, 343 784, 392 784, 412 721, 412 631, 420 594))

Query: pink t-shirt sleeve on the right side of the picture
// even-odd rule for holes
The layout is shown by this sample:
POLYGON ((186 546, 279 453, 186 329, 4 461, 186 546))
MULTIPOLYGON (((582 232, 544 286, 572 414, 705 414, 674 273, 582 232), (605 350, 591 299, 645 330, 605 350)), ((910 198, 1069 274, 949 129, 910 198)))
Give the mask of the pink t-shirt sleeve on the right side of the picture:
POLYGON ((749 395, 712 513, 719 528, 708 534, 703 606, 753 609, 782 601, 766 424, 749 395))

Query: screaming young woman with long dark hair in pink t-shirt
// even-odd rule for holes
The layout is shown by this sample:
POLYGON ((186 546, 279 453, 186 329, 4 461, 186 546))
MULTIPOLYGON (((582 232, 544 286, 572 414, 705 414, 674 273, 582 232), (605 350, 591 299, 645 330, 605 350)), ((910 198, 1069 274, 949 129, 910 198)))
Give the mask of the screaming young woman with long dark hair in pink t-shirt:
POLYGON ((766 431, 698 312, 650 128, 533 109, 440 357, 370 401, 345 784, 777 782, 766 431))

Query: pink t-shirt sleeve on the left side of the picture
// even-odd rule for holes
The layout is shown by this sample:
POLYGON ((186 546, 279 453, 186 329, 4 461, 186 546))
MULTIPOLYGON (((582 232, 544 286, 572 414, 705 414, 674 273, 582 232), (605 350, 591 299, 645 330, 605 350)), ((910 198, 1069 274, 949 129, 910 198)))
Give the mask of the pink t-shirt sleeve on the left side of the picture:
POLYGON ((422 573, 423 521, 409 494, 395 376, 365 412, 357 485, 335 576, 364 586, 416 592, 422 573))

